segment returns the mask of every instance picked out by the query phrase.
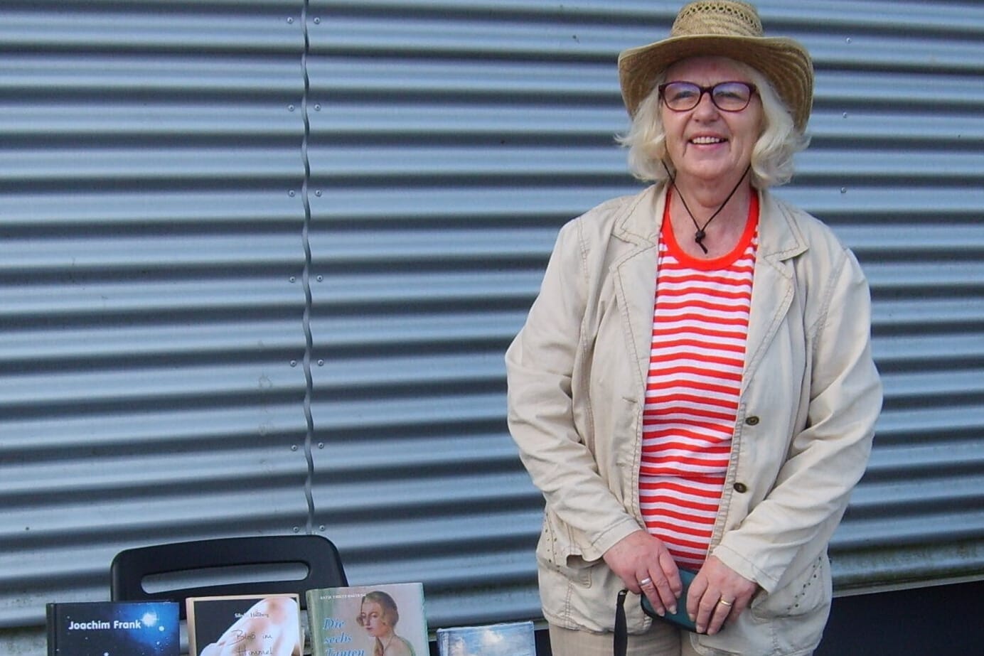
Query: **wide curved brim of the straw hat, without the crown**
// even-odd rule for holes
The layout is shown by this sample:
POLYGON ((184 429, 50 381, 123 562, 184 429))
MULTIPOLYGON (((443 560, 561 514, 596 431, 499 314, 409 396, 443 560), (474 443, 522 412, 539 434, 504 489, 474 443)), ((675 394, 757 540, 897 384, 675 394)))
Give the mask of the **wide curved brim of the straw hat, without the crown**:
POLYGON ((629 114, 635 116, 659 73, 681 59, 700 56, 727 57, 762 73, 789 107, 796 127, 806 129, 813 107, 813 60, 797 41, 783 37, 672 36, 629 48, 618 58, 622 99, 629 114))

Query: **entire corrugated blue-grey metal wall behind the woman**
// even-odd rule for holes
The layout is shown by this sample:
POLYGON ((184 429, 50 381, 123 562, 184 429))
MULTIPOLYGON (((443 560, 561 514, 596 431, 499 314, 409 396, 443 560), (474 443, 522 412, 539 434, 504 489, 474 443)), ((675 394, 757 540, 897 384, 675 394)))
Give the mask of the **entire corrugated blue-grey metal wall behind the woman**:
MULTIPOLYGON (((431 626, 535 617, 502 354, 631 192, 678 2, 0 6, 0 643, 119 549, 318 532, 431 626)), ((984 575, 984 7, 760 2, 817 65, 782 195, 858 253, 887 401, 841 592, 984 575)), ((31 653, 23 651, 21 653, 31 653)))

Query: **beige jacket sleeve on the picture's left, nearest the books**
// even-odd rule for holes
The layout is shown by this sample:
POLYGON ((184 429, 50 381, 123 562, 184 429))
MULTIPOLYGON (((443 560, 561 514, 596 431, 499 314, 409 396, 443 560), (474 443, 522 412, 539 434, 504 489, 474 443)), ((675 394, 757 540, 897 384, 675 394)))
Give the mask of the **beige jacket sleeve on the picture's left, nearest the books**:
POLYGON ((599 475, 578 430, 589 425, 589 404, 574 398, 573 379, 590 349, 582 330, 594 277, 582 220, 561 230, 539 295, 506 353, 506 369, 509 427, 523 464, 549 513, 566 524, 566 556, 595 561, 640 526, 599 475))

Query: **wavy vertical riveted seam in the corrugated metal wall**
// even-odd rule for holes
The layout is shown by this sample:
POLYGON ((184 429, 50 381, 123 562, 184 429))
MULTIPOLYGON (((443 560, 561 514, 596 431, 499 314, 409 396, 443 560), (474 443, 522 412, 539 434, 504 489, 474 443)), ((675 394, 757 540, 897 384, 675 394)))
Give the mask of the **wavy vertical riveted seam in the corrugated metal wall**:
POLYGON ((310 49, 308 36, 308 2, 303 0, 301 5, 301 34, 304 39, 304 49, 301 51, 301 77, 304 89, 301 95, 301 119, 304 122, 304 135, 301 139, 301 161, 304 164, 304 180, 301 183, 301 202, 304 205, 304 222, 301 226, 301 243, 304 248, 304 270, 301 281, 304 287, 304 421, 306 431, 304 436, 304 457, 307 461, 307 475, 304 478, 304 498, 307 501, 307 522, 304 530, 313 532, 314 528, 314 415, 311 413, 311 399, 314 394, 314 380, 311 375, 311 352, 314 350, 314 337, 311 333, 311 202, 308 197, 311 181, 311 160, 308 157, 308 140, 311 136, 311 122, 308 116, 308 92, 311 81, 308 77, 307 58, 310 49))

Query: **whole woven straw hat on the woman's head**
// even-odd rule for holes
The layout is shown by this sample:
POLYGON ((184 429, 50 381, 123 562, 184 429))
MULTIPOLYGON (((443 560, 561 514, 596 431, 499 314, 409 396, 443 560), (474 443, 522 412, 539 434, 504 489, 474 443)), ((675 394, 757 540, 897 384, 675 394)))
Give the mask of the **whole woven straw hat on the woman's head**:
POLYGON ((796 127, 806 129, 813 106, 810 54, 791 38, 765 36, 755 7, 740 0, 684 5, 669 37, 619 55, 619 81, 629 113, 635 115, 656 75, 681 59, 704 55, 729 57, 758 70, 789 107, 796 127))

